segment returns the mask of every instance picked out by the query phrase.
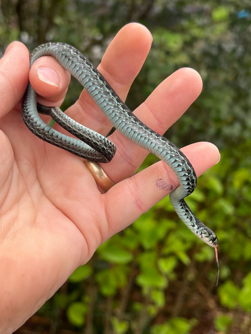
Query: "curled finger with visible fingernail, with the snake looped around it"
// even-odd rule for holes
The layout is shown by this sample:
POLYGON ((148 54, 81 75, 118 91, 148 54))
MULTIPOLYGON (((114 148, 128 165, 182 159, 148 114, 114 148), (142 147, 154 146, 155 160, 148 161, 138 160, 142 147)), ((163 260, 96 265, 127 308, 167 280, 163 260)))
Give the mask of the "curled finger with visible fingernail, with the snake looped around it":
POLYGON ((32 64, 29 79, 39 95, 39 103, 60 106, 64 101, 71 75, 54 57, 45 56, 32 64))

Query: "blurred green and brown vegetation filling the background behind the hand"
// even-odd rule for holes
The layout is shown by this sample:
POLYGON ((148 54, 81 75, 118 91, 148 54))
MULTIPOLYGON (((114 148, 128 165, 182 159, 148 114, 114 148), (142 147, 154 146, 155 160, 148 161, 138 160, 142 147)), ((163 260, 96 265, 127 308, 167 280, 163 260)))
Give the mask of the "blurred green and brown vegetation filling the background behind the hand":
MULTIPOLYGON (((218 286, 214 249, 188 232, 165 198, 101 245, 17 333, 250 333, 251 1, 1 0, 0 5, 2 53, 14 39, 30 50, 61 41, 97 65, 124 24, 145 24, 153 46, 128 106, 137 107, 176 69, 195 68, 202 94, 166 136, 178 146, 211 141, 222 155, 187 198, 220 240, 218 286)), ((65 106, 80 90, 71 84, 65 106)), ((155 161, 149 156, 142 168, 155 161)))

